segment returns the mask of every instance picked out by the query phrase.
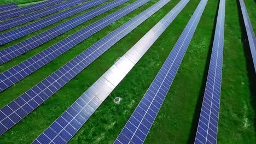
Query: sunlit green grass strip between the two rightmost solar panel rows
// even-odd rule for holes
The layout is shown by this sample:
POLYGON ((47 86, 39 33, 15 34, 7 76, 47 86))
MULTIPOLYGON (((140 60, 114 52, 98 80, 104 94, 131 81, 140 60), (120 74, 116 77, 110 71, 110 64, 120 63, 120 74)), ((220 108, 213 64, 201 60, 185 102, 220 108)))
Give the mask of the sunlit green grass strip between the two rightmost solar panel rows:
MULTIPOLYGON (((250 3, 252 1, 246 2, 250 3)), ((246 63, 246 58, 251 54, 245 52, 244 49, 246 47, 243 47, 242 44, 241 30, 244 27, 239 25, 239 21, 243 21, 238 19, 236 4, 235 1, 226 3, 226 5, 234 5, 234 7, 226 7, 226 11, 230 13, 226 15, 225 24, 222 99, 220 101, 218 138, 221 143, 254 143, 256 141, 255 109, 253 109, 253 103, 251 104, 253 93, 249 89, 248 77, 248 73, 252 71, 247 71, 246 68, 248 64, 246 63), (228 17, 230 18, 228 19, 228 17), (229 137, 229 139, 226 139, 226 137, 229 137)), ((248 4, 246 3, 246 5, 248 4)), ((255 17, 251 17, 252 20, 253 18, 255 20, 255 17)), ((252 23, 252 25, 256 26, 256 23, 252 23)))

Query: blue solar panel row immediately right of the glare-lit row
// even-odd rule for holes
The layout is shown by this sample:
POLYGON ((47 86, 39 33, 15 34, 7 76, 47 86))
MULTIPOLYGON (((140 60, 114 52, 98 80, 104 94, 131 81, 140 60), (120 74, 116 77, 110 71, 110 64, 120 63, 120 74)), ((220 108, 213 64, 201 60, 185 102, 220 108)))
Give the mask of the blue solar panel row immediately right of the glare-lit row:
POLYGON ((174 45, 172 51, 162 65, 146 94, 132 113, 125 127, 114 143, 143 143, 152 127, 162 103, 177 74, 179 65, 188 49, 197 24, 205 9, 207 0, 197 6, 187 26, 174 45))

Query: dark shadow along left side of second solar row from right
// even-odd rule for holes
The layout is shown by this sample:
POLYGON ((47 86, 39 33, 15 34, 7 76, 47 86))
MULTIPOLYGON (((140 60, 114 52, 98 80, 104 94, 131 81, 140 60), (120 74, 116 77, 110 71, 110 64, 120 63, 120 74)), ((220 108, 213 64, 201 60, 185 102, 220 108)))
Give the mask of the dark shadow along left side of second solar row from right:
POLYGON ((196 102, 194 117, 193 117, 191 129, 190 129, 190 134, 189 134, 189 139, 188 139, 187 143, 194 143, 194 141, 195 141, 197 125, 199 123, 199 117, 200 117, 200 112, 201 112, 201 107, 202 107, 203 95, 205 94, 205 87, 206 87, 206 81, 207 81, 207 76, 208 76, 208 69, 210 67, 212 46, 213 46, 214 34, 215 34, 218 11, 219 11, 219 3, 220 3, 220 1, 218 2, 218 7, 217 7, 216 14, 215 14, 215 17, 214 17, 214 26, 213 26, 213 30, 212 30, 211 43, 208 46, 208 53, 207 53, 205 70, 203 71, 203 79, 202 79, 202 82, 201 82, 200 93, 199 93, 199 97, 198 97, 197 102, 196 102))

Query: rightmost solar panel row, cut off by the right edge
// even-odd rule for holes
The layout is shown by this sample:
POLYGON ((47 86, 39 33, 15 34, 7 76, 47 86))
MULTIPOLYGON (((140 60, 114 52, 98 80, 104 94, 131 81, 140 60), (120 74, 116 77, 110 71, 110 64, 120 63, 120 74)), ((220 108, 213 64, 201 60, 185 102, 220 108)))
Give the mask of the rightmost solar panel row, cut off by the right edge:
POLYGON ((247 33, 247 37, 248 37, 248 41, 249 41, 250 50, 252 53, 254 70, 256 72, 256 38, 255 38, 255 35, 253 32, 252 23, 249 19, 249 15, 246 10, 245 2, 243 2, 243 0, 239 0, 239 2, 240 2, 241 10, 242 10, 243 22, 245 22, 246 33, 247 33))

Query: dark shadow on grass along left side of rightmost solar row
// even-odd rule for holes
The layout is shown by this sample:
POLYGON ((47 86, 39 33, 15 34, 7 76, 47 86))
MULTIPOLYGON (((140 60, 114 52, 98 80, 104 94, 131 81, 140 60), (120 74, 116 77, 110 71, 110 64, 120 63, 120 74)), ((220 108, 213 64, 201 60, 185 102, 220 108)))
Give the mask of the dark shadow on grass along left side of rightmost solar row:
MULTIPOLYGON (((256 1, 256 0, 254 0, 256 1)), ((238 9, 238 16, 239 16, 239 23, 240 23, 240 28, 242 32, 242 43, 243 43, 243 51, 245 52, 245 57, 246 57, 246 68, 247 68, 247 75, 249 78, 249 87, 250 87, 250 92, 251 92, 251 105, 254 109, 254 113, 256 114, 256 74, 255 74, 255 69, 253 65, 253 59, 252 59, 252 53, 251 49, 249 47, 249 41, 247 37, 247 32, 246 32, 246 27, 245 23, 243 21, 243 15, 240 7, 239 0, 236 1, 237 3, 237 9, 238 9)), ((256 132, 256 116, 254 116, 254 130, 256 132)))

